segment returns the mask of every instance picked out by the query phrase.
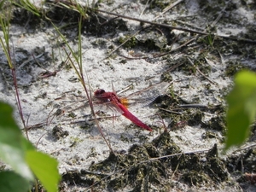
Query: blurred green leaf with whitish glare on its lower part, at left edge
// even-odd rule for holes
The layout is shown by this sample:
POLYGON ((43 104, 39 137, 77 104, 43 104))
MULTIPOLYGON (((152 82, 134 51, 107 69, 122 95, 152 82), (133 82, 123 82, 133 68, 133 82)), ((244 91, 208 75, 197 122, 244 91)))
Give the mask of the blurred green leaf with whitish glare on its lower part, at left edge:
POLYGON ((8 104, 0 102, 0 159, 9 164, 20 176, 33 180, 32 172, 25 160, 25 150, 32 148, 32 145, 22 136, 12 112, 13 109, 8 104))

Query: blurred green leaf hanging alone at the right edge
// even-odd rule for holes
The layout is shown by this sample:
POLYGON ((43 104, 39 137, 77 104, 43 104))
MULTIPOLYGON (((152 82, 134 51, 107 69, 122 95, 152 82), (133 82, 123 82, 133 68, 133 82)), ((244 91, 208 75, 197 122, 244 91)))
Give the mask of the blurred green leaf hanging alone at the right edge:
POLYGON ((227 100, 229 109, 225 149, 241 145, 249 136, 249 125, 256 115, 256 74, 248 71, 237 73, 235 86, 227 100))

